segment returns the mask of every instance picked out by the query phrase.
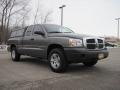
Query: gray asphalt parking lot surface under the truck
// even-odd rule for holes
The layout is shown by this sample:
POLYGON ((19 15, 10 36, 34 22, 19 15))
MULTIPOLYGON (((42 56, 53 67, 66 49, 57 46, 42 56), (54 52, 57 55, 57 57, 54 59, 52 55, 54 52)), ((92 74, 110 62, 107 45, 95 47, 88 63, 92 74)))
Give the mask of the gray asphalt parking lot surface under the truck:
POLYGON ((13 62, 10 53, 0 52, 0 90, 120 90, 120 48, 109 51, 96 66, 72 64, 65 73, 36 58, 13 62))

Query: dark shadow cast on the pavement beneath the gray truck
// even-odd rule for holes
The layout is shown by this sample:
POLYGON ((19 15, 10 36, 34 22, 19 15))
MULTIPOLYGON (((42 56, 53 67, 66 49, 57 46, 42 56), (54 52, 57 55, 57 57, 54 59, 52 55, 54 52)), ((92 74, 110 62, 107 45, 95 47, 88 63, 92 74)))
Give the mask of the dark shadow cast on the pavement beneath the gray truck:
MULTIPOLYGON (((24 57, 21 58, 20 62, 27 63, 27 64, 32 64, 32 65, 37 65, 40 67, 48 67, 49 64, 47 60, 42 60, 39 58, 34 58, 34 57, 24 57)), ((101 68, 97 65, 93 67, 86 67, 82 63, 76 63, 76 64, 70 64, 67 68, 67 71, 65 73, 73 73, 73 72, 101 72, 101 68)))

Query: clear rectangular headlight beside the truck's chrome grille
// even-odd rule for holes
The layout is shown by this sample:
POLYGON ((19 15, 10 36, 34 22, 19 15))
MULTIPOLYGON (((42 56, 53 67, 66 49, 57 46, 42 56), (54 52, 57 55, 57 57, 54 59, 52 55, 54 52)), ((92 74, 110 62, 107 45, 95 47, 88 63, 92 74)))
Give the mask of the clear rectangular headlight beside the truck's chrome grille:
POLYGON ((82 47, 83 41, 81 39, 69 39, 70 47, 82 47))

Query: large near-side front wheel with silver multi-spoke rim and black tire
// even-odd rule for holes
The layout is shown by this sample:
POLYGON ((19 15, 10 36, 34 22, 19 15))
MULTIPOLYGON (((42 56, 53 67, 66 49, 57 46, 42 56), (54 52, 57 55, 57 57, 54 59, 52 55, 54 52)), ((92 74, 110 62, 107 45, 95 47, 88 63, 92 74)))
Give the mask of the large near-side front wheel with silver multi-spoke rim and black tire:
POLYGON ((53 72, 64 72, 67 69, 67 61, 61 49, 53 49, 48 55, 49 66, 53 72))

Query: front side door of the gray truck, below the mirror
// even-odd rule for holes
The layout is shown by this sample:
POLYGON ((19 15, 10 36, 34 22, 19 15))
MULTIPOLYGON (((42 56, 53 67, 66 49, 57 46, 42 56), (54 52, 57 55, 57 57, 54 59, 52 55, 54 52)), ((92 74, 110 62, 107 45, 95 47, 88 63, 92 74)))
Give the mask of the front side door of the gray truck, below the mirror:
POLYGON ((34 30, 33 30, 33 38, 34 40, 32 41, 32 47, 33 47, 33 52, 36 57, 45 57, 45 48, 46 48, 46 37, 45 35, 40 35, 40 34, 35 34, 36 31, 41 31, 43 33, 44 30, 42 28, 42 25, 35 25, 34 30))

